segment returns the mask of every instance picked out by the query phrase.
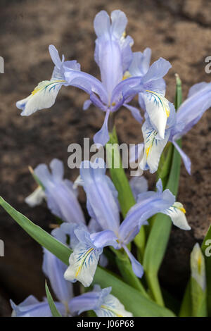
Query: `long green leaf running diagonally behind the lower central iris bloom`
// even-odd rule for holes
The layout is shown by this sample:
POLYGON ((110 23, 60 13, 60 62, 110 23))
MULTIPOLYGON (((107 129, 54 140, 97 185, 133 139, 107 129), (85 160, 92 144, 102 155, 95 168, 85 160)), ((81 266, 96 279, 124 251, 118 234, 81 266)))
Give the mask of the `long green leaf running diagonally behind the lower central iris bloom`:
MULTIPOLYGON (((69 256, 72 251, 65 245, 61 244, 49 235, 47 232, 34 225, 27 217, 10 206, 0 197, 1 206, 9 215, 41 246, 51 251, 55 256, 60 258, 68 266, 69 256)), ((147 299, 133 287, 122 282, 119 277, 109 273, 107 270, 98 267, 94 276, 94 284, 104 287, 112 287, 112 293, 119 299, 127 311, 131 311, 134 316, 174 316, 174 313, 167 308, 162 308, 155 302, 147 299)))

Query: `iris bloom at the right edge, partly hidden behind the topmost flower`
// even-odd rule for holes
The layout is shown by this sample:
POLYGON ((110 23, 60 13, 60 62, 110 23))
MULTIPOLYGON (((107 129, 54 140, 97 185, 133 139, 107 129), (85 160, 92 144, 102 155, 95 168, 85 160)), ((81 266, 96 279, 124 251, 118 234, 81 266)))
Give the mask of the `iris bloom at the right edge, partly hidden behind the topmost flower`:
POLYGON ((179 151, 186 170, 191 175, 191 160, 179 147, 177 139, 191 130, 193 125, 198 123, 198 120, 200 120, 203 113, 207 111, 210 106, 211 83, 201 82, 193 85, 188 93, 188 98, 181 104, 176 113, 172 105, 170 105, 171 111, 169 118, 167 118, 164 139, 157 139, 158 131, 155 130, 148 115, 146 115, 146 121, 142 125, 144 148, 141 149, 141 144, 139 144, 139 154, 137 154, 135 152, 136 149, 134 149, 134 153, 131 154, 132 161, 138 159, 143 150, 144 155, 139 165, 143 170, 150 170, 151 173, 155 173, 155 171, 158 170, 162 151, 167 142, 170 141, 179 151))

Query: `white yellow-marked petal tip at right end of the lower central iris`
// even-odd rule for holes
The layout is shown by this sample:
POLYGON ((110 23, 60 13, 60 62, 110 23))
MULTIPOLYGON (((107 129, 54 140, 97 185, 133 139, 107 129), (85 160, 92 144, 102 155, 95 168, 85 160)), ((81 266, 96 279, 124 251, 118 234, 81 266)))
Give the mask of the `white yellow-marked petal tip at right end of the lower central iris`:
POLYGON ((174 202, 173 206, 165 211, 165 214, 170 216, 175 226, 179 227, 181 230, 191 230, 186 220, 185 213, 184 206, 180 202, 174 202))

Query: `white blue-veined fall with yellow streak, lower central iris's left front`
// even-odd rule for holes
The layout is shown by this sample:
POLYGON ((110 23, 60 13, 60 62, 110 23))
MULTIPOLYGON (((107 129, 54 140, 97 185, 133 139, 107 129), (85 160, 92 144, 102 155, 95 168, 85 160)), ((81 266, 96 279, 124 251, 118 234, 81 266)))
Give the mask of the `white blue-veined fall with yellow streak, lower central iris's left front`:
POLYGON ((99 256, 102 249, 96 249, 81 242, 77 244, 73 253, 70 255, 70 266, 65 271, 65 280, 70 282, 79 282, 84 287, 89 287, 93 280, 98 265, 99 256))

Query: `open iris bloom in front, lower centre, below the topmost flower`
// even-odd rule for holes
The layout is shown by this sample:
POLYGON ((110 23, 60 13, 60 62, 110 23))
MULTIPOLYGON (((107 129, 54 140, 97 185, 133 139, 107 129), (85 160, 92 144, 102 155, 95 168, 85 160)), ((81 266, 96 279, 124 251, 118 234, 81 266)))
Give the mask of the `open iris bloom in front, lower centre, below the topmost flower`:
POLYGON ((139 194, 136 205, 129 210, 126 218, 120 224, 117 192, 113 182, 106 175, 104 161, 96 159, 95 163, 82 162, 80 175, 87 194, 88 211, 101 227, 101 231, 90 235, 86 230, 75 230, 78 243, 75 248, 73 247, 73 253, 70 255, 70 266, 65 271, 66 280, 71 282, 79 280, 84 286, 89 286, 96 271, 98 258, 105 246, 124 249, 132 263, 134 273, 137 277, 142 277, 143 268, 127 249, 127 244, 132 242, 141 226, 146 225, 147 219, 155 213, 168 213, 174 225, 184 230, 190 228, 186 223, 186 218, 181 219, 180 217, 183 207, 174 206, 173 194, 168 189, 162 192, 161 180, 158 181, 158 192, 139 194))

